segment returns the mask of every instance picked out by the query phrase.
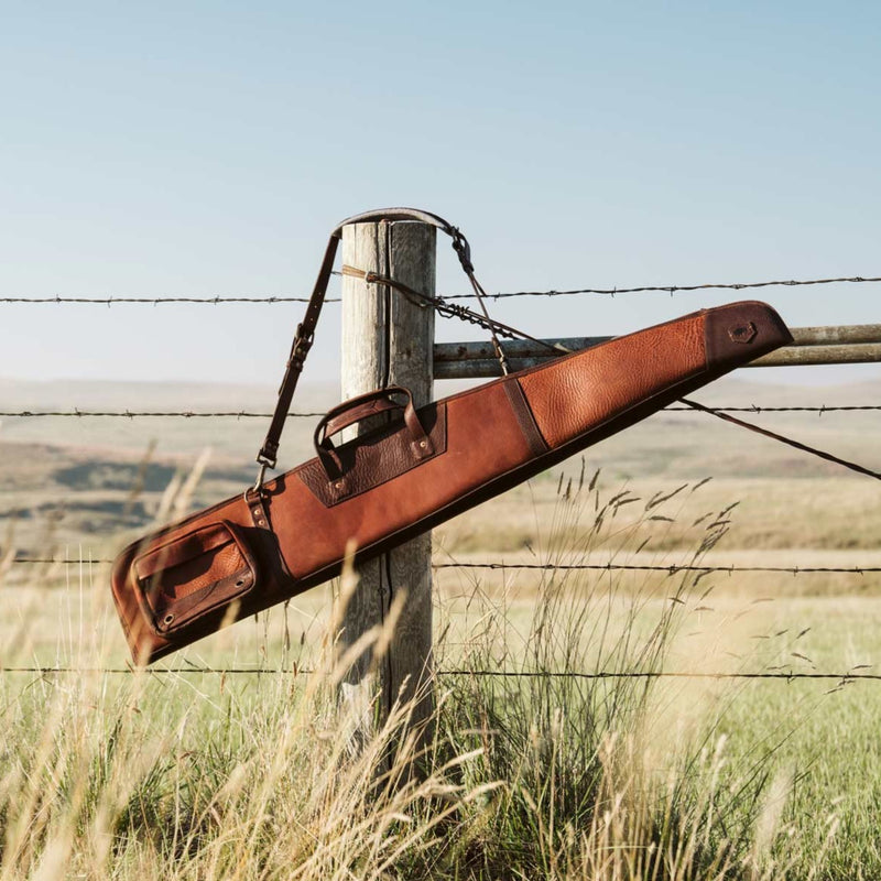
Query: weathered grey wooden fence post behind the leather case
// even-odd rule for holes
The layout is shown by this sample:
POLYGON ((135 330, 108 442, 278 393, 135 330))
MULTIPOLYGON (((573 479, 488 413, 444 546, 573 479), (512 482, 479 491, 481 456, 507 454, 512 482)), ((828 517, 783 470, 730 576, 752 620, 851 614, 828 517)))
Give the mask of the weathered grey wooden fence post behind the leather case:
MULTIPOLYGON (((342 261, 435 293, 434 227, 412 221, 344 227, 342 261)), ((432 400, 434 311, 389 287, 342 279, 342 400, 385 385, 404 385, 416 406, 432 400)), ((383 420, 377 416, 374 420, 383 420)), ((354 431, 369 431, 376 421, 354 431)), ((344 682, 342 697, 356 739, 369 737, 374 700, 380 721, 395 700, 412 700, 411 726, 427 735, 434 701, 432 675, 432 537, 421 535, 358 569, 359 584, 344 618, 344 648, 387 621, 392 603, 405 596, 388 651, 365 652, 344 682), (378 695, 377 689, 380 689, 378 695)))

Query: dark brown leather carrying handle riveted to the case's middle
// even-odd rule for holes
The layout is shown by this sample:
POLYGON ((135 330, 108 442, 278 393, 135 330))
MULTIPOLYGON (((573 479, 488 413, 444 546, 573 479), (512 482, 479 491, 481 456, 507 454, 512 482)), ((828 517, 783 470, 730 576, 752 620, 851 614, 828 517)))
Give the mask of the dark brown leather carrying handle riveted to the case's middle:
MULTIPOLYGON (((403 410, 404 425, 410 435, 410 449, 414 458, 424 459, 434 453, 434 445, 425 432, 416 409, 413 405, 413 394, 403 385, 389 385, 388 389, 377 389, 366 394, 359 394, 341 404, 328 410, 315 427, 315 452, 318 454, 327 479, 345 483, 342 461, 336 447, 330 443, 330 437, 337 432, 355 425, 369 416, 387 413, 393 410, 403 410), (393 400, 392 395, 403 394, 406 403, 393 400)), ((337 489, 345 489, 340 486, 337 489)))

